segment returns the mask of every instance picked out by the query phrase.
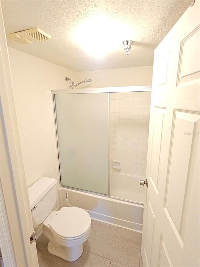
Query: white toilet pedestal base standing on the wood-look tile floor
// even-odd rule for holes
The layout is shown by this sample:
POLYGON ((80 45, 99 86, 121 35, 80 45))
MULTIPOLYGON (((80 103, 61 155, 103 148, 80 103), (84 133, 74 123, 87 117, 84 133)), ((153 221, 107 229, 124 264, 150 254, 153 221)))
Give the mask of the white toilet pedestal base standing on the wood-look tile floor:
POLYGON ((49 241, 47 245, 48 252, 59 257, 65 259, 67 261, 75 261, 83 253, 83 244, 75 247, 64 247, 64 246, 55 246, 51 241, 49 241))

